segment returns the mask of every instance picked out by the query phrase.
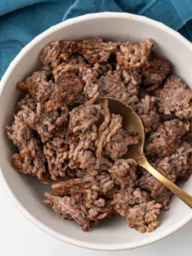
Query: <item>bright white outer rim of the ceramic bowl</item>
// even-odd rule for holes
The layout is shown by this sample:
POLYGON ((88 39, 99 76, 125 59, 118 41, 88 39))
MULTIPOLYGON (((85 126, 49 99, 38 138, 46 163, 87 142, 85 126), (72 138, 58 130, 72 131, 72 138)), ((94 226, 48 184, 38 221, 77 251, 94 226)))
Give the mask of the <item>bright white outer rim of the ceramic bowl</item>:
MULTIPOLYGON (((76 18, 68 19, 66 21, 63 21, 61 23, 58 23, 55 26, 50 27, 49 29, 45 30, 43 33, 36 36, 30 43, 28 43, 23 49, 19 52, 19 54, 14 58, 14 60, 10 63, 9 67, 5 71, 4 76, 1 79, 0 82, 0 99, 2 96, 2 92, 4 89, 4 86, 6 85, 7 79, 9 79, 9 76, 12 74, 13 69, 17 66, 17 63, 25 56, 27 52, 30 51, 31 48, 33 48, 36 44, 42 41, 43 38, 46 36, 54 33, 54 31, 57 31, 58 29, 74 25, 75 23, 81 22, 81 21, 89 21, 94 19, 100 19, 100 18, 122 18, 122 19, 130 19, 133 21, 139 21, 146 23, 150 26, 154 26, 158 28, 158 30, 162 30, 163 32, 171 35, 175 38, 175 40, 180 41, 182 44, 184 44, 191 52, 192 52, 192 44, 181 34, 179 34, 177 31, 171 29, 170 27, 167 27, 161 22, 155 21, 153 19, 149 19, 147 17, 143 17, 141 15, 136 15, 132 13, 118 13, 118 12, 102 12, 102 13, 91 13, 91 14, 85 14, 76 18)), ((41 221, 36 219, 33 214, 29 213, 28 210, 22 206, 22 204, 19 202, 18 198, 15 197, 13 194, 11 187, 7 183, 3 171, 1 169, 1 163, 0 163, 0 180, 2 182, 2 185, 6 191, 6 193, 9 195, 15 206, 25 215, 27 219, 29 219, 31 222, 33 222, 38 228, 45 231, 47 234, 52 235, 55 238, 60 239, 61 241, 67 242, 69 244, 73 244, 80 247, 85 247, 87 249, 93 249, 93 250, 106 250, 106 251, 118 251, 118 250, 127 250, 127 249, 134 249, 136 247, 144 246, 147 244, 154 243, 158 241, 159 239, 162 239, 166 236, 169 236, 174 231, 178 230, 179 228, 183 227, 189 220, 192 219, 192 211, 191 214, 187 215, 185 218, 181 219, 179 222, 175 223, 174 226, 167 228, 165 231, 161 232, 160 234, 155 235, 154 237, 149 237, 141 241, 137 242, 126 242, 122 244, 96 244, 96 243, 90 243, 90 242, 82 242, 78 239, 70 238, 66 235, 60 234, 57 231, 52 230, 50 227, 44 225, 41 221)))

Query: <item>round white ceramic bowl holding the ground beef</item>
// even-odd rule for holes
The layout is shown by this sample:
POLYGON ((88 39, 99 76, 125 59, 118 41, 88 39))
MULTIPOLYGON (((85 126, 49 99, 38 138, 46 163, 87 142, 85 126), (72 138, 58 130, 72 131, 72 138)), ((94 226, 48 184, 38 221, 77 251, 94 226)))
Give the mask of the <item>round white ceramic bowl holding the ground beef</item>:
MULTIPOLYGON (((140 42, 146 37, 154 39, 154 50, 173 63, 173 71, 192 89, 192 44, 179 33, 157 21, 129 13, 97 13, 59 23, 31 41, 11 62, 0 86, 0 143, 3 186, 14 204, 37 227, 62 241, 95 250, 133 249, 153 243, 181 228, 192 218, 192 211, 176 196, 171 209, 161 214, 161 225, 153 233, 141 234, 128 227, 125 218, 103 220, 101 225, 88 233, 74 221, 62 220, 49 206, 43 204, 44 191, 50 190, 36 178, 20 175, 13 170, 11 156, 15 151, 5 134, 5 125, 10 124, 16 102, 21 92, 15 83, 30 75, 40 65, 39 53, 53 40, 102 37, 111 41, 131 40, 140 42)), ((192 194, 192 177, 182 185, 192 194)), ((6 220, 7 224, 9 220, 6 220)))

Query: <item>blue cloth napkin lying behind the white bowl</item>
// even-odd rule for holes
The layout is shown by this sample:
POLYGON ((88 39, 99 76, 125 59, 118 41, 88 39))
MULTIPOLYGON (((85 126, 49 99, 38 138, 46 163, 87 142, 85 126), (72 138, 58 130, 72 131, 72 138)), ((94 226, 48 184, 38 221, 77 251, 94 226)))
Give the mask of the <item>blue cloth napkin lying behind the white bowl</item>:
POLYGON ((145 15, 192 41, 191 0, 1 0, 0 78, 22 47, 42 31, 69 18, 104 11, 145 15))

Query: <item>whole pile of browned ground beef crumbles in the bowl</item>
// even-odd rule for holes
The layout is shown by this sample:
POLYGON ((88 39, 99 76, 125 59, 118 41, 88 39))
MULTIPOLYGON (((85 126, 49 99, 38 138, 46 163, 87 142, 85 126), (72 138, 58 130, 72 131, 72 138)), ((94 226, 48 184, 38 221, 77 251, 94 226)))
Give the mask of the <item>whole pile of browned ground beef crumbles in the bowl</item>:
POLYGON ((129 227, 151 232, 172 193, 134 159, 139 142, 122 117, 110 114, 111 97, 130 105, 146 133, 149 162, 172 182, 192 173, 192 92, 171 75, 169 60, 151 52, 153 41, 103 42, 101 38, 55 41, 41 53, 42 68, 18 89, 26 95, 6 133, 18 148, 15 171, 57 182, 44 202, 84 231, 120 214, 129 227))

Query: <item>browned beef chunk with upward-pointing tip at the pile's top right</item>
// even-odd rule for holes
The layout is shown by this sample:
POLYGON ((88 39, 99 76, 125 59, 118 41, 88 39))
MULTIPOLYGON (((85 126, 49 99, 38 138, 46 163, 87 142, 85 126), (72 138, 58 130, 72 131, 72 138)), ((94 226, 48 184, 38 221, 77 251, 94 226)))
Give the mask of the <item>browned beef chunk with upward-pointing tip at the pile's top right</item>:
POLYGON ((153 47, 151 39, 147 38, 145 43, 132 44, 123 43, 116 52, 117 64, 125 69, 134 71, 148 66, 148 57, 153 47))

